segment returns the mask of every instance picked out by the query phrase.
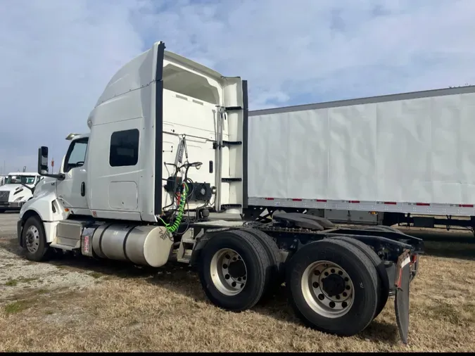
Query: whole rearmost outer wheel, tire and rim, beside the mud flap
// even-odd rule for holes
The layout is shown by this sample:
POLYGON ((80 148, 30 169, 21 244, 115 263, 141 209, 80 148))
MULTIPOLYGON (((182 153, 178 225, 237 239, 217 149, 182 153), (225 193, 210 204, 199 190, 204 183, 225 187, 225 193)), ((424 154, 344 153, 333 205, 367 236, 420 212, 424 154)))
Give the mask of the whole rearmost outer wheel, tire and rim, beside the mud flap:
POLYGON ((291 305, 308 326, 352 336, 372 321, 377 275, 359 248, 332 239, 309 243, 293 255, 287 272, 291 305))

